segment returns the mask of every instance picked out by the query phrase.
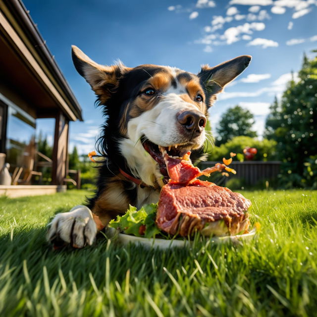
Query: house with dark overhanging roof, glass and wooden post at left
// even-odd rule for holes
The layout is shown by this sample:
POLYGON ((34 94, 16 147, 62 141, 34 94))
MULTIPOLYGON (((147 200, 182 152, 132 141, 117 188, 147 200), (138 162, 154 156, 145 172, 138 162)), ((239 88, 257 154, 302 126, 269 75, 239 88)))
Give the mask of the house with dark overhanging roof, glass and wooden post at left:
POLYGON ((26 149, 34 143, 40 118, 55 119, 52 185, 0 185, 0 194, 65 190, 69 122, 83 120, 81 107, 23 3, 1 0, 0 153, 6 154, 11 168, 19 166, 25 153, 31 155, 26 149))

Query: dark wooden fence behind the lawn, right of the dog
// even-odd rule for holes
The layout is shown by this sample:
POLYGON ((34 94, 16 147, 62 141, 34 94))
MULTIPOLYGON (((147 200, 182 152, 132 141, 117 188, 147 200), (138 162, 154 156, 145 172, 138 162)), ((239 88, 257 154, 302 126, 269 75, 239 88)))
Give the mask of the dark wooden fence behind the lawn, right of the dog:
MULTIPOLYGON (((206 167, 213 166, 215 163, 217 162, 201 162, 200 167, 204 169, 206 167)), ((233 161, 230 164, 230 167, 234 168, 237 171, 237 174, 230 176, 230 178, 240 178, 244 180, 246 185, 255 185, 261 180, 275 178, 280 173, 280 165, 280 161, 233 161)))

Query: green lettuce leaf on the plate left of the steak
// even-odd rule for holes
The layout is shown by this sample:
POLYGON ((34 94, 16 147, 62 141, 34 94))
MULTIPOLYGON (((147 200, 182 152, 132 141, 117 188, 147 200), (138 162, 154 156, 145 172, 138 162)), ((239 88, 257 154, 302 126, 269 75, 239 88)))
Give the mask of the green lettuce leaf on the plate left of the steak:
POLYGON ((153 238, 161 233, 155 224, 157 210, 158 204, 145 205, 139 211, 130 205, 124 215, 118 215, 116 219, 112 219, 108 226, 137 237, 153 238), (141 226, 145 226, 145 231, 143 228, 140 230, 141 226), (141 234, 140 231, 144 234, 141 234))

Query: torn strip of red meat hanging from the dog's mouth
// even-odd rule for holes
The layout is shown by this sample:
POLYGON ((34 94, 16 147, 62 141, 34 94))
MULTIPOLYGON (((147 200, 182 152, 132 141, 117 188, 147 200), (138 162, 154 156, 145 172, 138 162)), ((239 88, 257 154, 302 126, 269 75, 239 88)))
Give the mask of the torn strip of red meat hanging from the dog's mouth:
POLYGON ((201 171, 198 167, 192 164, 189 156, 190 152, 185 154, 182 159, 174 159, 167 154, 164 155, 164 161, 168 176, 170 177, 170 182, 174 184, 187 185, 193 182, 198 176, 210 176, 213 172, 221 172, 224 169, 228 169, 225 164, 216 163, 214 166, 201 171))

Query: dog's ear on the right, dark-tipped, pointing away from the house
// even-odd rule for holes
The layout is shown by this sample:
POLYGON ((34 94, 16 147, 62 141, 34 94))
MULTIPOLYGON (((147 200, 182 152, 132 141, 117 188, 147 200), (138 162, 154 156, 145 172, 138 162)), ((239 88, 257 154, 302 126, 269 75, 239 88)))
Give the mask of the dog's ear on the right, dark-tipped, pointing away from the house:
POLYGON ((251 58, 250 55, 242 55, 214 67, 202 66, 198 77, 203 82, 203 87, 206 87, 209 99, 212 100, 212 95, 220 93, 225 85, 241 74, 248 67, 251 58))

